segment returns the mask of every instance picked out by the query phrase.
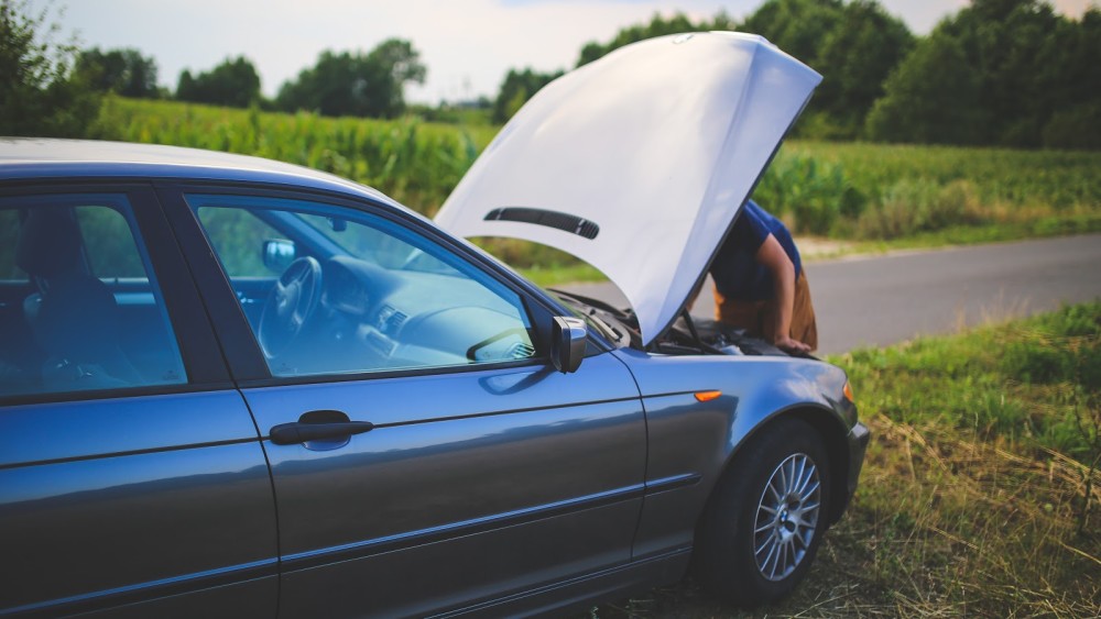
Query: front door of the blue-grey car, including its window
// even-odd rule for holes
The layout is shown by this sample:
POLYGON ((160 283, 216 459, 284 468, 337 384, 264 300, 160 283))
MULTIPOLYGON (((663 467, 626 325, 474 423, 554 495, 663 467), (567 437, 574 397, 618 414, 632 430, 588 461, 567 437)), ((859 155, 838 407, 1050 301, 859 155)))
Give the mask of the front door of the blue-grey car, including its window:
POLYGON ((232 287, 200 275, 207 296, 238 300, 220 332, 259 342, 235 363, 271 461, 282 616, 423 615, 630 561, 645 424, 611 354, 555 371, 548 308, 397 209, 164 194, 205 230, 193 266, 216 256, 232 287))

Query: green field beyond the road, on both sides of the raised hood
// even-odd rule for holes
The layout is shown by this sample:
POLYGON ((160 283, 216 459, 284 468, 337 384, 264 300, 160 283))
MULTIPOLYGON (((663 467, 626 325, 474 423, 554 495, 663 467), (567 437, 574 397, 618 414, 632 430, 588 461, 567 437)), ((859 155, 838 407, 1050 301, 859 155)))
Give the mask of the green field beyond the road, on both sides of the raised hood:
MULTIPOLYGON (((90 135, 260 155, 371 185, 436 212, 499 128, 330 119, 110 97, 90 135)), ((786 143, 754 198, 797 235, 849 252, 1101 231, 1101 153, 786 143)), ((591 279, 569 256, 486 243, 544 281, 591 279), (565 275, 555 272, 569 268, 565 275)))

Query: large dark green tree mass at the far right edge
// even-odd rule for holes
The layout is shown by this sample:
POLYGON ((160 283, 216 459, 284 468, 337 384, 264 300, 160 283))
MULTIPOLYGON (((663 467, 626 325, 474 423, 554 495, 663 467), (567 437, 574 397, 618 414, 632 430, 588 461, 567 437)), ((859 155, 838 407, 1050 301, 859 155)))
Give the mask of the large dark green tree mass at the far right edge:
POLYGON ((974 0, 941 21, 900 66, 868 132, 876 140, 1089 147, 1101 142, 1098 84, 1095 9, 1076 22, 1038 0, 974 0), (951 109, 919 109, 934 101, 951 109))

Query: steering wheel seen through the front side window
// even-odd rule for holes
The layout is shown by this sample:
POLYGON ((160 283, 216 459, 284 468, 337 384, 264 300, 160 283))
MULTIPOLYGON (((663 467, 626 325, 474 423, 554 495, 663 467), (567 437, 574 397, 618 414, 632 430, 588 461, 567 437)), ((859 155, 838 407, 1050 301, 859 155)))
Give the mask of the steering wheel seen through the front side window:
POLYGON ((286 350, 321 299, 321 263, 301 257, 280 275, 260 314, 260 346, 274 357, 286 350))

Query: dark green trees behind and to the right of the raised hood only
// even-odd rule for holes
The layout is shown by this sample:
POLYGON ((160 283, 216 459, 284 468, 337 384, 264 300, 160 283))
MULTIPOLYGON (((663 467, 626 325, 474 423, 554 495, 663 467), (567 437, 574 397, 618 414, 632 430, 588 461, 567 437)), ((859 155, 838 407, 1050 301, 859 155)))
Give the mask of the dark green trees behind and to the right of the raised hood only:
MULTIPOLYGON (((825 77, 797 135, 1013 147, 1101 148, 1101 11, 1071 20, 1040 0, 972 0, 915 36, 874 0, 766 0, 743 21, 655 15, 576 66, 654 36, 760 34, 825 77)), ((510 70, 493 114, 506 120, 560 75, 510 70)))

